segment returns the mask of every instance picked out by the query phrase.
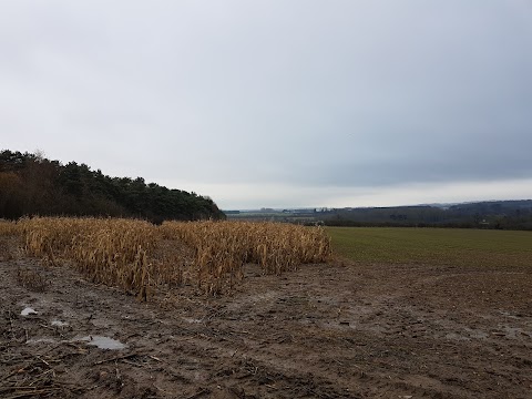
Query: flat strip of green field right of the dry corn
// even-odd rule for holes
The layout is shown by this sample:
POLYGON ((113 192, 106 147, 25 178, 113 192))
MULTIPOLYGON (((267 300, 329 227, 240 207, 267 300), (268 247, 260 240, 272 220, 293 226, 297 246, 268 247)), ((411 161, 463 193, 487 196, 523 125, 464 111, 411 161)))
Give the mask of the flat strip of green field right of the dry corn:
POLYGON ((531 266, 532 232, 327 227, 335 253, 355 262, 531 266))

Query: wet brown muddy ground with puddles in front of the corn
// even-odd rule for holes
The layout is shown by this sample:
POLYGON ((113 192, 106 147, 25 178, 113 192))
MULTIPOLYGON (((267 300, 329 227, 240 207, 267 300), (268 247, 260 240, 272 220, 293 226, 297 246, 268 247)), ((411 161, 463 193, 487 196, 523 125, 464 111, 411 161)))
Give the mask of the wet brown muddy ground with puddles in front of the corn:
POLYGON ((0 397, 532 398, 532 267, 246 274, 231 296, 145 304, 4 257, 0 397))

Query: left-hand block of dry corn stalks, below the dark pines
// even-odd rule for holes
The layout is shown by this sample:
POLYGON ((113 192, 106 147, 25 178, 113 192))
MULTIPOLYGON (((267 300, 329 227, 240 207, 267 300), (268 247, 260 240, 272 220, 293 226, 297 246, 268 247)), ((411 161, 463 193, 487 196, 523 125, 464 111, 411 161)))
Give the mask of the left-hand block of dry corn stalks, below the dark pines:
POLYGON ((33 217, 18 222, 28 255, 57 265, 70 263, 94 283, 147 297, 147 260, 156 229, 119 218, 33 217))

